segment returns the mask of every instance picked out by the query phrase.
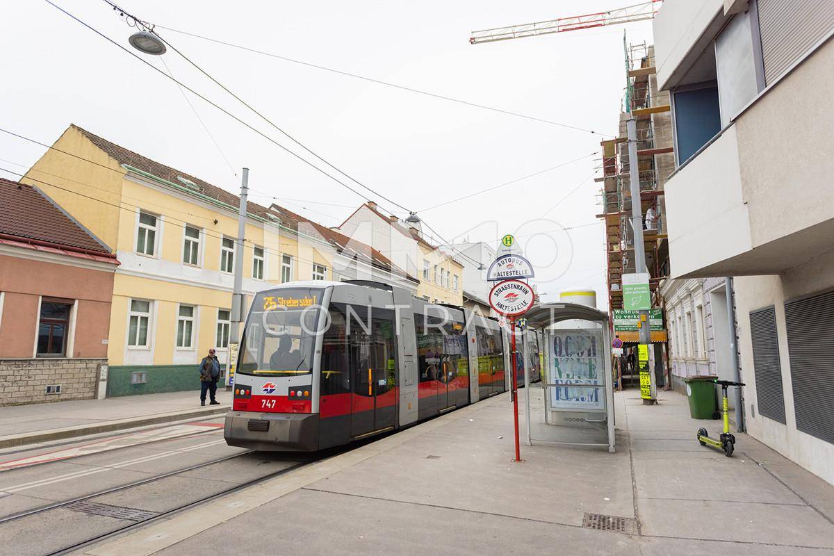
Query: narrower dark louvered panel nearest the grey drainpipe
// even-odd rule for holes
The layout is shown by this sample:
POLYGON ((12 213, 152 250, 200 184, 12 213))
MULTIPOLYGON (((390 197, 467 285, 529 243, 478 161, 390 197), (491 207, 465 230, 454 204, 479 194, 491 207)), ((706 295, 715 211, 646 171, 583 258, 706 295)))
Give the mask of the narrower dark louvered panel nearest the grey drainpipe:
POLYGON ((785 396, 781 387, 779 341, 776 337, 776 309, 766 307, 750 312, 753 370, 756 374, 756 403, 759 413, 785 423, 785 396))

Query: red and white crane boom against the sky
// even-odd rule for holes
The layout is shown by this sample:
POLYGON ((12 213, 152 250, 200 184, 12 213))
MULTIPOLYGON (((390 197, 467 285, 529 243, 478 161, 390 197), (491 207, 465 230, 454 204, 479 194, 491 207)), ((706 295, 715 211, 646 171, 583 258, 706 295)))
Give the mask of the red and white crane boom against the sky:
POLYGON ((571 18, 550 19, 549 21, 525 23, 524 25, 510 25, 509 27, 473 31, 470 43, 494 43, 495 41, 506 41, 510 38, 537 37, 550 33, 565 33, 565 31, 578 31, 604 25, 643 21, 654 18, 657 11, 661 9, 662 2, 663 0, 650 0, 625 8, 610 10, 610 12, 587 13, 571 18))

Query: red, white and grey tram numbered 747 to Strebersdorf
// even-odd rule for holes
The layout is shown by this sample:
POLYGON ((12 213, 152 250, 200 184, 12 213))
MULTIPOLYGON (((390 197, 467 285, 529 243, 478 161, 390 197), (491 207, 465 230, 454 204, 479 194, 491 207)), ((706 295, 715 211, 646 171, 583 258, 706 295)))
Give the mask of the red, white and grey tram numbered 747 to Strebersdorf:
POLYGON ((255 295, 224 438, 316 451, 505 392, 510 338, 498 322, 387 283, 287 283, 255 295))

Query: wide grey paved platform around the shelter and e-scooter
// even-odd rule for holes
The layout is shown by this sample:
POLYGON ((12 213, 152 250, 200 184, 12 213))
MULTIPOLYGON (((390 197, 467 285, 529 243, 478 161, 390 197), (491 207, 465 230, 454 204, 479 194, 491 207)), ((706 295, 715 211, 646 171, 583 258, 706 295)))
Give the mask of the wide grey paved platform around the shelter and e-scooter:
POLYGON ((80 553, 834 549, 834 486, 745 434, 736 435, 733 458, 701 447, 697 428, 715 432, 720 422, 691 419, 681 394, 663 392, 659 405, 646 406, 635 390, 616 393, 615 453, 522 444, 524 463, 511 461, 511 407, 508 394, 490 398, 80 553))

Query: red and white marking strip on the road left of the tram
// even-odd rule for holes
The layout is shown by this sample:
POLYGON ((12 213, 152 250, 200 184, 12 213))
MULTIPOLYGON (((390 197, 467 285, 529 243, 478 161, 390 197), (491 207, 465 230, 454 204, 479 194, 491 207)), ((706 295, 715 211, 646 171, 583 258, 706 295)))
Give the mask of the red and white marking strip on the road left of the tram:
POLYGON ((107 452, 116 448, 136 446, 157 440, 180 438, 189 434, 214 433, 217 431, 207 429, 219 427, 223 427, 223 423, 183 423, 170 427, 152 428, 139 431, 138 433, 121 434, 116 437, 103 438, 94 442, 81 444, 80 446, 71 446, 69 448, 38 453, 38 455, 28 456, 26 458, 10 459, 0 462, 0 470, 28 467, 37 463, 48 463, 68 458, 78 458, 78 456, 89 455, 91 453, 107 452))

